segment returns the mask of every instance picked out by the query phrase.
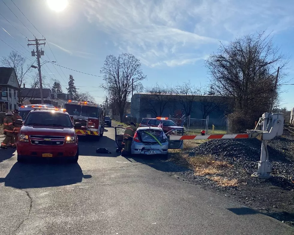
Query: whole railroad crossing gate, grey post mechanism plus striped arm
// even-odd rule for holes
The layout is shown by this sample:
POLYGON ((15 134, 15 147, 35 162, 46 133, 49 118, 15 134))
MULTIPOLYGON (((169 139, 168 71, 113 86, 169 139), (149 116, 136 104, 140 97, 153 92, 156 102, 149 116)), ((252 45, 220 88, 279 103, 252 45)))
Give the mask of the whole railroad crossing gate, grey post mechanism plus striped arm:
POLYGON ((213 139, 248 139, 261 135, 261 154, 257 173, 252 177, 268 179, 271 177, 271 163, 268 159, 267 142, 283 134, 283 113, 264 113, 259 118, 254 130, 247 130, 247 134, 212 134, 212 135, 170 135, 170 140, 213 140, 213 139))

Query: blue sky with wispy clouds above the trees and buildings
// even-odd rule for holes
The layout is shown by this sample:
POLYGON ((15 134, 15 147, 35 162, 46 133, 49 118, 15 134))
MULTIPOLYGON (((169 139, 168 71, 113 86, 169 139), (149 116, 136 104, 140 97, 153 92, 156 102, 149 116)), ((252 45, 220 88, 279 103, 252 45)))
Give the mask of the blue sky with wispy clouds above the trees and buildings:
MULTIPOLYGON (((291 0, 282 3, 274 0, 71 0, 61 12, 48 7, 47 0, 13 0, 42 35, 11 0, 3 1, 37 38, 44 35, 59 65, 78 71, 101 75, 100 68, 107 55, 127 52, 141 60, 148 78, 143 82, 145 86, 185 80, 203 86, 209 79, 204 60, 217 51, 219 41, 227 43, 244 34, 267 30, 272 31, 274 43, 291 57, 287 80, 291 82, 294 77, 294 2, 291 0)), ((2 0, 0 13, 22 34, 34 39, 2 0)), ((0 25, 27 48, 27 39, 2 16, 0 25)), ((0 39, 33 58, 2 29, 0 39)), ((3 57, 11 48, 1 40, 0 57, 3 57)), ((55 60, 50 48, 44 47, 44 60, 55 60)), ((103 101, 105 93, 99 88, 102 78, 68 69, 61 71, 50 63, 46 66, 43 67, 48 78, 56 77, 65 87, 72 74, 79 91, 89 91, 97 102, 103 101)), ((286 92, 282 94, 281 106, 290 109, 294 107, 291 96, 294 85, 283 88, 286 92)))

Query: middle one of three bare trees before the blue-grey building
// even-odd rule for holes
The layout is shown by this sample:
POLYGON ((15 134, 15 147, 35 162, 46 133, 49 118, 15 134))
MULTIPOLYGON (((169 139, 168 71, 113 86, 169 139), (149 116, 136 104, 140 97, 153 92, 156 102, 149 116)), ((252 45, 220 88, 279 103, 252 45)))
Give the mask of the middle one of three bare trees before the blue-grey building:
POLYGON ((175 87, 175 94, 177 94, 177 102, 184 108, 186 116, 191 115, 199 90, 191 84, 191 81, 183 82, 175 87))

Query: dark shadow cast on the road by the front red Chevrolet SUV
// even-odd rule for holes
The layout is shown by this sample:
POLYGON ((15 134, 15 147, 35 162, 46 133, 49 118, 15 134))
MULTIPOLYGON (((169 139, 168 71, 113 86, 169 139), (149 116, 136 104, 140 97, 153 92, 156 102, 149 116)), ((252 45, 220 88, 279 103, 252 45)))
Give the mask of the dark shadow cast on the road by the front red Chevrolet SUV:
POLYGON ((0 182, 5 182, 7 187, 25 189, 76 184, 82 182, 83 178, 91 177, 91 175, 83 175, 78 163, 40 159, 38 163, 16 162, 7 176, 0 178, 0 182))

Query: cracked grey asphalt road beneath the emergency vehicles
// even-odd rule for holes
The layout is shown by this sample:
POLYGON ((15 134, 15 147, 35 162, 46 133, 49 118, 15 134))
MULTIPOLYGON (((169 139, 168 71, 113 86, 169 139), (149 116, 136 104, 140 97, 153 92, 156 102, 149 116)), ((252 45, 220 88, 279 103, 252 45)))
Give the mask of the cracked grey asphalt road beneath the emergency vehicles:
POLYGON ((79 139, 78 164, 21 164, 16 151, 0 149, 0 234, 294 234, 183 182, 164 161, 116 154, 114 128, 106 131, 98 142, 79 139))

